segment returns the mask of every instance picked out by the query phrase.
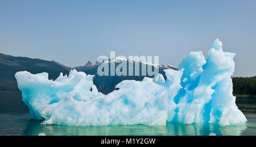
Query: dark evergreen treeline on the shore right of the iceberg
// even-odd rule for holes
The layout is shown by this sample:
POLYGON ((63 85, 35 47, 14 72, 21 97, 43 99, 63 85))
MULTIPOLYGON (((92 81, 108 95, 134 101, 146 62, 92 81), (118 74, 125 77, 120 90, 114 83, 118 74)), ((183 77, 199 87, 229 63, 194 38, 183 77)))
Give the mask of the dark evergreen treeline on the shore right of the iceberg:
POLYGON ((232 81, 233 81, 234 95, 243 95, 243 94, 256 95, 256 76, 232 77, 232 81))

